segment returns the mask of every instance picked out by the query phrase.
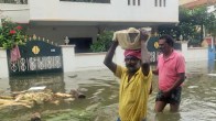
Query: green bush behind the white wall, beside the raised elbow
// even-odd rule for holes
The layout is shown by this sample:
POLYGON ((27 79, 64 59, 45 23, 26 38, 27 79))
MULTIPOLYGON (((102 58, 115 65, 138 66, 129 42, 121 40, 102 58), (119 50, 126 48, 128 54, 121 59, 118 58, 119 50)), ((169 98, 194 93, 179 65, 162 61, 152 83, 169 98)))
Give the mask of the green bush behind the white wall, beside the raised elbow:
POLYGON ((90 45, 91 52, 106 52, 109 48, 109 45, 112 41, 112 31, 104 31, 101 34, 98 34, 97 42, 90 45))

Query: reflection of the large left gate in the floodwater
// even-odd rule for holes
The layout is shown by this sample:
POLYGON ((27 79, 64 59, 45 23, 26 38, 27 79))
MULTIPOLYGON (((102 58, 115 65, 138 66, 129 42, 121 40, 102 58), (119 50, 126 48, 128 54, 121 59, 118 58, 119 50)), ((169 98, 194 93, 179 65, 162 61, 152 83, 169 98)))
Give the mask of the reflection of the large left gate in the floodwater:
POLYGON ((46 86, 53 92, 65 92, 63 74, 14 76, 9 80, 11 91, 28 90, 31 87, 46 86))

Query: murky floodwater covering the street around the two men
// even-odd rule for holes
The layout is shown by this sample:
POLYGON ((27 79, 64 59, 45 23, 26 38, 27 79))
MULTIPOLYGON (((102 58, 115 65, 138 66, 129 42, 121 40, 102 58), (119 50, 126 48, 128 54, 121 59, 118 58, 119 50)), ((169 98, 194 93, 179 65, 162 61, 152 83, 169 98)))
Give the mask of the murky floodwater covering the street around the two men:
MULTIPOLYGON (((182 91, 180 112, 155 114, 154 99, 158 91, 153 77, 153 92, 149 98, 148 121, 215 121, 216 119, 216 64, 215 62, 186 63, 186 80, 182 91)), ((33 109, 0 110, 1 121, 29 121, 33 112, 40 112, 42 121, 116 121, 118 117, 118 78, 108 69, 71 74, 30 75, 0 79, 0 92, 28 90, 33 86, 46 86, 54 92, 78 89, 86 99, 69 103, 42 105, 33 109)))

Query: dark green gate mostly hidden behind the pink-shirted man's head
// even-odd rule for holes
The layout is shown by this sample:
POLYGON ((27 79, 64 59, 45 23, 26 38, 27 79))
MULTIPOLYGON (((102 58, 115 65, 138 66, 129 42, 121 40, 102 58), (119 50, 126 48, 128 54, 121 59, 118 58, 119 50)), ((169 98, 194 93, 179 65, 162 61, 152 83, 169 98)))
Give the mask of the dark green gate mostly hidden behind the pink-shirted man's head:
MULTIPOLYGON (((175 50, 182 50, 182 46, 180 43, 175 43, 174 44, 174 48, 175 50)), ((150 62, 152 64, 155 64, 158 62, 158 55, 160 54, 159 52, 159 37, 154 36, 154 37, 150 37, 150 40, 148 41, 148 51, 150 52, 150 62)))

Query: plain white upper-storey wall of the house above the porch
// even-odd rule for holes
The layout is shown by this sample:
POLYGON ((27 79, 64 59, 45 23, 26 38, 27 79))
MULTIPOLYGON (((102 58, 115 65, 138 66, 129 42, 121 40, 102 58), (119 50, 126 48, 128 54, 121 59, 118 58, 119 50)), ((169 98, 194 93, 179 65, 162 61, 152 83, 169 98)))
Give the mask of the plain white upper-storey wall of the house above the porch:
POLYGON ((154 7, 154 0, 141 0, 141 6, 128 6, 128 0, 111 0, 111 3, 29 0, 29 4, 31 20, 112 22, 179 21, 179 0, 166 0, 166 7, 154 7))

